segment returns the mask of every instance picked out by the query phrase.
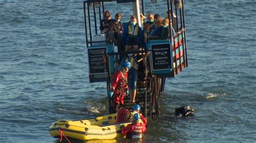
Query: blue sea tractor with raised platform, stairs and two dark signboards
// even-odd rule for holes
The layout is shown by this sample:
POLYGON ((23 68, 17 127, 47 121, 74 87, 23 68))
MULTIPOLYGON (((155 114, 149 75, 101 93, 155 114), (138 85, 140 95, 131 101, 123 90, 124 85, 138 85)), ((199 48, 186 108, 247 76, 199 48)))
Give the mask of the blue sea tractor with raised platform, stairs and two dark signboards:
MULTIPOLYGON (((107 34, 100 34, 99 23, 103 19, 106 3, 114 5, 111 6, 111 8, 120 8, 118 5, 130 3, 133 9, 133 13, 131 12, 130 16, 136 16, 139 25, 143 25, 143 23, 140 22, 140 13, 144 15, 145 8, 143 0, 84 1, 85 35, 90 82, 106 82, 106 95, 108 95, 111 89, 112 75, 118 68, 119 61, 122 60, 120 59, 120 55, 137 53, 139 69, 136 104, 140 105, 143 115, 148 119, 158 117, 160 109, 158 102, 161 92, 164 91, 166 77, 174 77, 187 67, 183 0, 167 0, 166 5, 162 5, 163 9, 165 8, 165 12, 163 12, 164 16, 168 10, 173 13, 173 16, 169 15, 167 18, 172 19, 169 21, 171 25, 173 25, 176 34, 167 40, 149 40, 146 47, 136 52, 119 52, 114 42, 106 41, 107 34)), ((151 3, 157 3, 157 0, 152 0, 151 3)), ((127 18, 126 21, 129 21, 129 19, 127 18)), ((171 32, 170 28, 170 33, 171 32)), ((129 99, 129 96, 125 99, 125 108, 131 110, 135 103, 129 103, 129 99)), ((113 113, 111 105, 112 99, 107 96, 109 114, 113 113)))

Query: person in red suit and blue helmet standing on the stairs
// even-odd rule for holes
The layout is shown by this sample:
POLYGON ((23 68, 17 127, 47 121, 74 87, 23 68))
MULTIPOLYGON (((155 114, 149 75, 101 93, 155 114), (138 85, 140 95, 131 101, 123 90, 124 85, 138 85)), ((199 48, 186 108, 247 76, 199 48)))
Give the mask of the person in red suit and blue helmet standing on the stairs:
POLYGON ((127 84, 128 71, 131 68, 130 62, 125 62, 122 68, 114 71, 112 82, 111 82, 111 92, 109 96, 112 97, 112 110, 117 112, 120 106, 124 105, 124 99, 126 95, 129 95, 129 87, 127 84))

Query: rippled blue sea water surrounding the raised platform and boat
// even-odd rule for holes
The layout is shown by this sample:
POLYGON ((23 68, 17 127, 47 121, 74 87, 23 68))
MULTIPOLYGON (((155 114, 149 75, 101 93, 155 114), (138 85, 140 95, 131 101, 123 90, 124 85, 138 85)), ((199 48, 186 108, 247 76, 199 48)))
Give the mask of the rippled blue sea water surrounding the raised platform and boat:
MULTIPOLYGON (((144 2, 165 17, 166 2, 144 2)), ((143 142, 255 142, 256 1, 184 3, 188 67, 143 142), (196 116, 175 119, 181 105, 196 116)), ((105 9, 127 22, 131 4, 105 9)), ((0 142, 58 142, 54 121, 105 114, 106 83, 88 77, 83 1, 0 1, 0 142)))

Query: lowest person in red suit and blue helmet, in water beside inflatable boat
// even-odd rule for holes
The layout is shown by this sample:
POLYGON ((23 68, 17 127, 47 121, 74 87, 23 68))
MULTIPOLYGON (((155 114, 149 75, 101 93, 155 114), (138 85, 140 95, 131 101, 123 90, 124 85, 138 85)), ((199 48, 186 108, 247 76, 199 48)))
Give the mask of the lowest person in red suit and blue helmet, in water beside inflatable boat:
POLYGON ((140 117, 138 113, 133 115, 133 122, 123 127, 121 130, 122 134, 126 134, 127 139, 141 139, 142 134, 146 132, 146 127, 143 123, 140 123, 140 117))

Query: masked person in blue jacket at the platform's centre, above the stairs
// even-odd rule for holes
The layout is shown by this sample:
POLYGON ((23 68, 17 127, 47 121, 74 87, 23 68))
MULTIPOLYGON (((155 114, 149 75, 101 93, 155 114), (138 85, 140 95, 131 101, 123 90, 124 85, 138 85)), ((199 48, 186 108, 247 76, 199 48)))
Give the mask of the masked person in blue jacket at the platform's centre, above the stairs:
POLYGON ((137 23, 137 18, 131 16, 130 22, 124 27, 122 33, 125 51, 138 51, 140 46, 143 46, 143 33, 142 28, 137 23))

